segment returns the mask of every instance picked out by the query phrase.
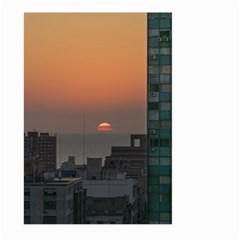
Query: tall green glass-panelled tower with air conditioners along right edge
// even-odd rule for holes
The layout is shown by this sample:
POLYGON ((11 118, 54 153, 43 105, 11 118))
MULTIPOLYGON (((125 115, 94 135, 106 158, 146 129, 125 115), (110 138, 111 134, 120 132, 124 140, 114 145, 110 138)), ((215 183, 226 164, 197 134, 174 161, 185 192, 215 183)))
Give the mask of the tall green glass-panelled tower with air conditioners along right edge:
POLYGON ((148 18, 148 223, 172 223, 172 14, 148 18))

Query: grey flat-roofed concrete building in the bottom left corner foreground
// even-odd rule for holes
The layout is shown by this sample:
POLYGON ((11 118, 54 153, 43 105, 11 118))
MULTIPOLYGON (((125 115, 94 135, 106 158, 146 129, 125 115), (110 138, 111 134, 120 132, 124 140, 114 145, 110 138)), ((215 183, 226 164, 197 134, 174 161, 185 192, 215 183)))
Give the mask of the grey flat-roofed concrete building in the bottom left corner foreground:
POLYGON ((25 224, 86 223, 86 190, 80 178, 49 179, 24 186, 25 224))

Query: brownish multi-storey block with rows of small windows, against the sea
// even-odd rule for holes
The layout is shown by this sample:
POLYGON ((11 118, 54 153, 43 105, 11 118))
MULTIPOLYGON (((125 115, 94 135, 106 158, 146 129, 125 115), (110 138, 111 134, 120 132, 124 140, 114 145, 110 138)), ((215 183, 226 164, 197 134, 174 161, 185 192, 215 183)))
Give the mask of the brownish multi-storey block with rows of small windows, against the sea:
POLYGON ((24 135, 25 180, 40 179, 43 172, 56 170, 56 136, 49 133, 28 132, 24 135))

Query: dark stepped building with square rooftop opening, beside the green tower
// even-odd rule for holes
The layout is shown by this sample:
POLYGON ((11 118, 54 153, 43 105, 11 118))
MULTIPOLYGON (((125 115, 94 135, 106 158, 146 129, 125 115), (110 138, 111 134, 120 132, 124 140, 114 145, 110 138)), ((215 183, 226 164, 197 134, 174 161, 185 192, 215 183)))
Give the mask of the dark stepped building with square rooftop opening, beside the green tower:
POLYGON ((117 180, 120 174, 125 179, 136 179, 141 198, 138 199, 138 222, 146 222, 147 201, 147 135, 132 134, 130 146, 112 147, 102 169, 103 179, 117 180))

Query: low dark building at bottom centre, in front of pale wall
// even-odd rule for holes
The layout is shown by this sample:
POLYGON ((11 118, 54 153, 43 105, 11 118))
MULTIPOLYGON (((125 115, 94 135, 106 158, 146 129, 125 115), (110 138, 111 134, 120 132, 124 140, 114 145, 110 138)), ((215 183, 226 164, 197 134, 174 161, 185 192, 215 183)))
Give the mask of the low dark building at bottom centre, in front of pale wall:
POLYGON ((87 223, 131 223, 131 205, 127 195, 122 197, 88 197, 87 223))

